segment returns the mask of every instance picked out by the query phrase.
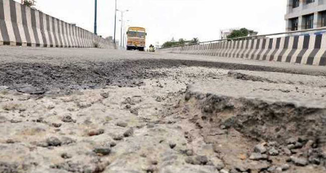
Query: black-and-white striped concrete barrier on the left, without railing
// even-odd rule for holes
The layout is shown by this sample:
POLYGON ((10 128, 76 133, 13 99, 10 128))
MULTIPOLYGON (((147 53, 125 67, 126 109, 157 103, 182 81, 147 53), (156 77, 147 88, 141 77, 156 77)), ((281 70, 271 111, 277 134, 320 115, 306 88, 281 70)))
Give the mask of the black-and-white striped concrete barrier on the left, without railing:
POLYGON ((13 0, 0 0, 0 45, 113 48, 108 40, 13 0))

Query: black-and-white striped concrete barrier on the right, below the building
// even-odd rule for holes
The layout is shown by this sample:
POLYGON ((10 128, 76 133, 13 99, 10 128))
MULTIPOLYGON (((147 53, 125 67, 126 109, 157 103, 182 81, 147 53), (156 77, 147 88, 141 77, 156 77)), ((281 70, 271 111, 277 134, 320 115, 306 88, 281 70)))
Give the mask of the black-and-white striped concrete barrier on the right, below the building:
POLYGON ((187 45, 159 52, 326 66, 326 34, 187 45))

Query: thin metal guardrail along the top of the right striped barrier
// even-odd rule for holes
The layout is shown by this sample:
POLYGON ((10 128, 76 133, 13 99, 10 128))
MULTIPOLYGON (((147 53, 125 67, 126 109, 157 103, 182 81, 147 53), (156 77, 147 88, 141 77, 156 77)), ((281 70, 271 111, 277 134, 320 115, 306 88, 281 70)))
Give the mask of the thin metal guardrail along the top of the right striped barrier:
MULTIPOLYGON (((244 39, 252 39, 252 38, 258 38, 258 37, 266 37, 266 36, 277 36, 282 34, 295 34, 295 33, 304 33, 304 32, 311 32, 311 31, 321 31, 326 30, 326 27, 321 28, 315 28, 315 29, 308 29, 308 30, 299 30, 299 31, 289 31, 289 32, 283 32, 283 33, 274 33, 274 34, 265 34, 265 35, 257 35, 257 36, 248 36, 248 37, 237 37, 232 39, 220 39, 220 40, 212 40, 212 41, 206 41, 206 42, 198 42, 189 44, 191 45, 200 45, 203 43, 213 43, 213 42, 221 42, 221 41, 232 41, 232 40, 244 40, 244 39)), ((168 48, 161 48, 161 49, 169 49, 169 48, 175 48, 175 47, 182 47, 182 46, 189 46, 189 45, 176 45, 168 48)))

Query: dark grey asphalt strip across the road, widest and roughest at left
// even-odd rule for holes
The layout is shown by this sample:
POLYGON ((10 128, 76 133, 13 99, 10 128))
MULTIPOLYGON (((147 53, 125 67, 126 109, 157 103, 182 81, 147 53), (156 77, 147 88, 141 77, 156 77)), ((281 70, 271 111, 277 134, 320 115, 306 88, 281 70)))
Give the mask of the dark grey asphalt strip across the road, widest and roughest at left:
MULTIPOLYGON (((180 66, 305 74, 305 72, 273 67, 189 60, 88 61, 65 62, 61 65, 15 62, 0 64, 0 86, 29 94, 43 94, 50 90, 102 88, 107 85, 136 87, 143 84, 143 79, 167 76, 165 73, 151 71, 152 69, 180 66)), ((325 76, 326 74, 310 75, 325 76)))

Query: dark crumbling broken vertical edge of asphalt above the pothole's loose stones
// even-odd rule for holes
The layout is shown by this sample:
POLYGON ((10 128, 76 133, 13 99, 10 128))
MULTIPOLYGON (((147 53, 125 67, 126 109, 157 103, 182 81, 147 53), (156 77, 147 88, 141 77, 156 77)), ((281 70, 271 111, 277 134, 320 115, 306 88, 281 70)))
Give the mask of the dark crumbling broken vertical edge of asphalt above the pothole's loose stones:
POLYGON ((215 127, 235 128, 256 140, 284 142, 291 136, 304 136, 326 144, 326 109, 192 92, 185 99, 190 100, 190 107, 201 110, 198 119, 215 127))

